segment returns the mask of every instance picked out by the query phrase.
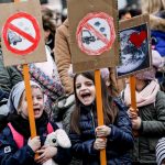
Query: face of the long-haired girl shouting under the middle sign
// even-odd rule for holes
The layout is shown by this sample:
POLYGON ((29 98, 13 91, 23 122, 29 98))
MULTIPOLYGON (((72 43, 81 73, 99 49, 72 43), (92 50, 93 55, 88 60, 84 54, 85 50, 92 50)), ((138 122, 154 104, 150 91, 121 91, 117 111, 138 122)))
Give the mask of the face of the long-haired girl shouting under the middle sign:
POLYGON ((82 105, 91 105, 96 98, 96 88, 94 81, 84 77, 82 75, 78 75, 76 78, 76 95, 82 105))

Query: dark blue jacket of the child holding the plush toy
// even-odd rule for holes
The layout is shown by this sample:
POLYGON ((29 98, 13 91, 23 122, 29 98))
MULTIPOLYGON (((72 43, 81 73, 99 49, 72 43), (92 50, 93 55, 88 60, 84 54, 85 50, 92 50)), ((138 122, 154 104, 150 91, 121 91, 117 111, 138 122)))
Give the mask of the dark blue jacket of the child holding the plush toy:
MULTIPOLYGON (((52 125, 54 131, 58 129, 57 125, 52 125)), ((40 128, 38 132, 41 142, 44 144, 47 128, 40 128)), ((59 165, 67 165, 70 162, 69 148, 58 147, 53 160, 59 165)), ((0 165, 38 165, 34 162, 34 152, 28 145, 28 140, 24 140, 24 146, 19 150, 9 127, 4 128, 0 134, 0 165)))

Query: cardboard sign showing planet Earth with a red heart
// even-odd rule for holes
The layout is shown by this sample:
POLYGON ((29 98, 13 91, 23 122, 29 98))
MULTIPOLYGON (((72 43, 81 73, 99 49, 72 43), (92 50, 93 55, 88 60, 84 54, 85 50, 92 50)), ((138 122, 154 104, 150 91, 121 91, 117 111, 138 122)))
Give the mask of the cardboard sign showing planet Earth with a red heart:
POLYGON ((147 14, 120 22, 118 77, 127 77, 151 67, 150 18, 147 14))

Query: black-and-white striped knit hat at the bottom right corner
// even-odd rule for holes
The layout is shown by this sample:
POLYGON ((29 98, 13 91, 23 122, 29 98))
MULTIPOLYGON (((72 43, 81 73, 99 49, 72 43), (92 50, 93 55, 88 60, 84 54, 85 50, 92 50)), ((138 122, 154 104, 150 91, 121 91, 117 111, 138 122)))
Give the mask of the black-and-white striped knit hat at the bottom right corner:
POLYGON ((156 145, 157 165, 162 165, 163 160, 165 160, 165 138, 160 139, 156 145))

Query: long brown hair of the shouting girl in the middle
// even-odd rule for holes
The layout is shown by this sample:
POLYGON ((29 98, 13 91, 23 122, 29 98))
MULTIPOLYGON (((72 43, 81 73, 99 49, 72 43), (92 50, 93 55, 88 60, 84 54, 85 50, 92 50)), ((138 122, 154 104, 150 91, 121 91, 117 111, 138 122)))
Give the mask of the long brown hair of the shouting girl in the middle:
MULTIPOLYGON (((70 130, 80 134, 79 130, 79 119, 80 119, 80 105, 81 102, 79 101, 77 94, 76 94, 76 80, 79 75, 82 75, 84 77, 92 80, 95 82, 95 76, 92 72, 87 72, 87 73, 80 73, 75 75, 74 77, 74 90, 75 90, 75 98, 76 98, 76 107, 75 110, 72 113, 70 118, 70 130)), ((103 119, 106 124, 113 123, 118 113, 118 108, 114 106, 112 101, 112 97, 108 92, 108 88, 101 78, 101 94, 102 94, 102 109, 103 109, 103 119)), ((95 105, 96 107, 96 105, 95 105)))

